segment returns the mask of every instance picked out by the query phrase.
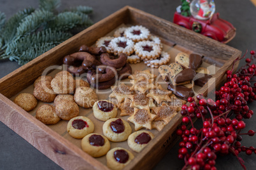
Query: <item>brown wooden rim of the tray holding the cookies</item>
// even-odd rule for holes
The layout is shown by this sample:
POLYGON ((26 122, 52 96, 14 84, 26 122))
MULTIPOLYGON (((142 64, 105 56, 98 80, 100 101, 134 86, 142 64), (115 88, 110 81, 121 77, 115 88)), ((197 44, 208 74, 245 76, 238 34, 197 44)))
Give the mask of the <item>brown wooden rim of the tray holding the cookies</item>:
MULTIPOLYGON (((94 25, 92 25, 91 27, 89 27, 88 29, 83 30, 82 32, 80 32, 79 34, 76 34, 76 36, 71 37, 72 39, 79 39, 80 36, 82 36, 83 34, 85 34, 85 32, 92 32, 94 29, 96 29, 97 27, 101 27, 103 26, 103 23, 107 20, 112 20, 113 18, 117 17, 118 15, 131 15, 131 13, 139 13, 141 15, 145 15, 149 18, 155 18, 156 20, 159 20, 159 22, 163 22, 164 24, 167 25, 171 25, 172 27, 176 27, 178 28, 178 25, 175 25, 174 23, 168 22, 162 18, 159 18, 157 16, 153 16, 150 15, 148 13, 145 13, 144 11, 140 11, 136 8, 132 8, 131 6, 125 6, 124 8, 118 10, 117 12, 111 14, 110 16, 104 18, 103 20, 101 20, 100 22, 95 23, 94 25), (128 14, 127 14, 128 13, 128 14)), ((194 32, 192 32, 191 30, 187 30, 187 29, 183 29, 183 28, 178 28, 181 30, 181 32, 186 32, 188 36, 194 36, 194 32)), ((225 44, 221 44, 220 42, 216 42, 214 40, 208 39, 202 35, 197 35, 200 37, 200 39, 205 39, 206 42, 208 42, 210 45, 211 44, 217 44, 218 46, 221 46, 224 49, 229 49, 229 53, 231 53, 231 58, 230 60, 228 60, 223 67, 218 70, 217 74, 215 74, 215 76, 213 76, 214 78, 218 78, 217 76, 223 76, 225 74, 225 70, 227 69, 231 69, 231 63, 234 60, 234 58, 237 58, 238 56, 241 56, 241 51, 239 51, 238 49, 234 49, 231 48, 225 44)), ((53 49, 50 49, 50 51, 47 51, 46 53, 44 53, 43 55, 39 56, 38 58, 32 60, 32 62, 27 63, 26 65, 20 67, 19 69, 13 71, 11 74, 6 75, 5 77, 3 77, 2 79, 0 79, 0 84, 4 84, 4 82, 6 82, 9 79, 12 79, 13 77, 18 76, 18 74, 20 74, 20 72, 23 72, 27 69, 30 69, 32 67, 32 65, 35 64, 39 64, 40 62, 42 62, 45 57, 49 57, 50 54, 52 53, 56 53, 57 49, 61 49, 64 48, 67 44, 68 44, 69 40, 63 42, 62 44, 60 44, 59 46, 56 46, 53 49)), ((182 45, 182 44, 181 44, 182 45)), ((238 63, 236 64, 236 66, 238 65, 238 63)), ((211 84, 213 84, 214 81, 213 79, 208 82, 204 88, 202 88, 200 90, 200 93, 203 93, 203 95, 206 95, 206 86, 212 86, 211 84)), ((1 86, 0 86, 1 87, 1 86)), ((5 94, 6 95, 6 94, 5 94)), ((42 131, 43 133, 46 133, 50 136, 54 136, 55 140, 59 142, 60 145, 62 145, 62 147, 64 149, 67 149, 68 151, 70 150, 70 152, 73 152, 73 154, 76 155, 76 159, 80 159, 80 162, 83 162, 83 166, 84 165, 88 165, 89 167, 93 167, 94 169, 108 169, 108 167, 104 166, 101 162, 97 161, 96 159, 90 157, 90 155, 86 154, 85 152, 83 152, 80 148, 76 147, 75 145, 73 145, 71 142, 69 142, 68 140, 62 138, 62 136, 60 136, 59 134, 57 134, 55 131, 53 131, 52 129, 48 128, 47 126, 45 126, 43 123, 39 122, 36 118, 32 117, 32 115, 28 114, 27 112, 25 112, 24 110, 22 110, 20 107, 18 107, 17 105, 15 105, 12 101, 10 101, 6 96, 0 94, 0 105, 4 108, 8 108, 7 110, 10 111, 10 115, 8 115, 9 113, 5 113, 5 114, 0 114, 0 121, 3 122, 4 124, 6 124, 6 126, 10 127, 11 129, 13 129, 13 131, 17 132, 18 134, 22 134, 21 136, 23 138, 25 138, 25 140, 29 141, 29 143, 31 143, 34 147, 38 148, 38 150, 40 150, 43 154, 45 154, 46 156, 48 156, 50 159, 52 159, 54 162, 56 162, 57 164, 59 164, 59 166, 64 167, 64 168, 68 168, 68 166, 63 163, 62 161, 60 161, 60 159, 58 158, 58 156, 56 155, 50 155, 47 150, 42 150, 41 147, 38 146, 37 143, 34 143, 33 140, 31 140, 28 136, 25 136, 23 133, 20 133, 20 130, 13 127, 11 125, 9 121, 9 119, 6 119, 6 117, 10 118, 11 121, 13 121, 11 118, 12 115, 17 115, 20 114, 23 119, 25 119, 28 122, 32 122, 34 125, 34 128, 37 128, 37 130, 42 131)), ((160 131, 160 133, 158 134, 157 138, 154 138, 151 142, 150 145, 148 145, 147 147, 145 147, 142 152, 140 152, 137 156, 136 159, 132 160, 132 162, 130 164, 128 164, 124 169, 141 169, 141 168, 145 168, 145 167, 152 167, 152 165, 155 165, 157 160, 160 160, 160 158, 162 156, 159 156, 158 149, 159 146, 157 146, 157 144, 161 144, 160 147, 164 147, 166 148, 164 150, 164 152, 166 153, 169 148, 171 148, 170 145, 170 138, 171 138, 171 134, 173 133, 174 129, 173 127, 178 126, 178 124, 180 124, 181 122, 181 115, 178 114, 176 117, 174 117, 174 119, 176 120, 174 123, 172 124, 167 124, 167 126, 162 129, 162 131, 160 131), (166 145, 162 145, 163 143, 166 143, 166 145), (151 158, 155 157, 155 162, 154 161, 143 161, 145 160, 146 157, 148 157, 148 153, 150 153, 151 158)), ((18 121, 17 121, 18 122, 18 121)), ((53 141, 53 142, 56 142, 53 141)), ((43 148, 45 149, 45 148, 43 148)), ((62 154, 63 155, 63 151, 57 150, 56 151, 57 154, 62 154)), ((52 153, 51 153, 52 154, 52 153)), ((149 160, 149 159, 146 159, 149 160)), ((81 166, 80 166, 81 167, 81 166)), ((77 169, 79 169, 80 167, 76 167, 77 169)))

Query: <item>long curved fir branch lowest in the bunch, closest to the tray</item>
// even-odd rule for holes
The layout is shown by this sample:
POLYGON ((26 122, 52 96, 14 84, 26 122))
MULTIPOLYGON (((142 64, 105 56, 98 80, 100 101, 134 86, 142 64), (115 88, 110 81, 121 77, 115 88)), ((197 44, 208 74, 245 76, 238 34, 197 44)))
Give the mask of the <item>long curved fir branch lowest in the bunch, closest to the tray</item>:
POLYGON ((69 39, 72 34, 69 32, 62 32, 58 30, 41 30, 37 34, 30 34, 28 36, 22 37, 17 41, 13 41, 12 43, 8 44, 6 48, 7 55, 16 55, 18 56, 23 51, 26 51, 34 44, 39 43, 52 43, 52 44, 60 44, 61 42, 69 39))

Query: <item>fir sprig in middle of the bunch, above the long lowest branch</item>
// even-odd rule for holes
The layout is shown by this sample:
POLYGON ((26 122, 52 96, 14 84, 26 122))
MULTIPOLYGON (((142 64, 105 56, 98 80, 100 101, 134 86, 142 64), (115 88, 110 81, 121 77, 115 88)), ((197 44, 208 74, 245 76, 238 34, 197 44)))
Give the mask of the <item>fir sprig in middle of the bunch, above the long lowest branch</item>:
POLYGON ((36 10, 34 13, 31 13, 31 15, 25 17, 20 25, 18 25, 16 36, 22 37, 27 34, 31 34, 31 32, 37 30, 46 22, 50 22, 53 18, 54 15, 50 11, 36 10))

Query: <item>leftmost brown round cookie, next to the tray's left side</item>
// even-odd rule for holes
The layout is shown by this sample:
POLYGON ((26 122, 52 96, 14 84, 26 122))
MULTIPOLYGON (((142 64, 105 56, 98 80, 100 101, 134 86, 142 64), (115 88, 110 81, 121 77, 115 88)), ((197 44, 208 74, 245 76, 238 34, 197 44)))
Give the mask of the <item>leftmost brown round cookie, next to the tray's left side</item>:
POLYGON ((20 93, 13 102, 27 112, 33 110, 38 105, 38 100, 29 93, 20 93))

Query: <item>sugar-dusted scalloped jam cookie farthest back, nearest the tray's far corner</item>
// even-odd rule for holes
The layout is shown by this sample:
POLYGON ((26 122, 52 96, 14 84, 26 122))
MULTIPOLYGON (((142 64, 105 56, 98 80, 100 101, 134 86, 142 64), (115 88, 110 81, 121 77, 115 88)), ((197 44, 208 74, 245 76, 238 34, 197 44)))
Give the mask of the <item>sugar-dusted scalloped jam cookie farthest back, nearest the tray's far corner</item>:
POLYGON ((141 25, 135 25, 125 30, 124 36, 132 39, 134 42, 147 40, 150 37, 150 31, 141 25))

